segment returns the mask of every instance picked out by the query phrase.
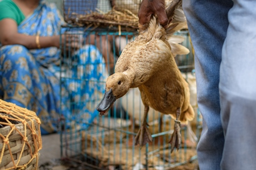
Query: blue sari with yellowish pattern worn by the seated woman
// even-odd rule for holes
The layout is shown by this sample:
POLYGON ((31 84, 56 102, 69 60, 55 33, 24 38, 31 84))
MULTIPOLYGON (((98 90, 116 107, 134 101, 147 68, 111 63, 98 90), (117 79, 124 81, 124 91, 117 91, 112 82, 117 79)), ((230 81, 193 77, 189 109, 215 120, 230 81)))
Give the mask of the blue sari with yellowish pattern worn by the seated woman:
MULTIPOLYGON (((18 32, 31 36, 59 35, 63 23, 54 4, 40 1, 34 13, 18 26, 18 32)), ((77 112, 74 108, 79 110, 81 118, 91 122, 97 115, 95 104, 79 101, 96 100, 105 90, 104 84, 96 81, 71 79, 77 76, 87 80, 106 79, 104 59, 95 46, 84 45, 74 53, 72 64, 77 66, 68 70, 67 78, 61 83, 60 55, 55 47, 28 50, 22 45, 6 45, 0 48, 0 97, 36 112, 42 121, 42 134, 57 131, 60 117, 72 123, 77 112), (71 104, 71 101, 76 102, 71 104)))

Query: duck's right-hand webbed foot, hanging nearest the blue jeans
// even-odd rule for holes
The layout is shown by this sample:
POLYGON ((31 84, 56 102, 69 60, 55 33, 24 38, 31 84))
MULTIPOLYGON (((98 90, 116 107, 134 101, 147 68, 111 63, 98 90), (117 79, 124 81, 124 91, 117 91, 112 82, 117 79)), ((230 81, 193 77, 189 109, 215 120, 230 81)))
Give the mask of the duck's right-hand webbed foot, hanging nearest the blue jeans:
POLYGON ((174 148, 176 147, 177 150, 180 148, 180 143, 181 143, 181 134, 180 134, 180 108, 177 109, 176 112, 176 120, 174 124, 174 133, 172 133, 171 139, 169 143, 171 144, 171 153, 174 151, 174 148))

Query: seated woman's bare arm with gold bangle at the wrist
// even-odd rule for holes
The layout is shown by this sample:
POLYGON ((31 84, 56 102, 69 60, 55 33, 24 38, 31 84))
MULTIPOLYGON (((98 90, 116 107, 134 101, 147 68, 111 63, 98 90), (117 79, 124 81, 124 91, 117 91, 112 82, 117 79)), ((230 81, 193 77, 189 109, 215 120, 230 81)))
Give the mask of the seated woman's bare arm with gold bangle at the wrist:
MULTIPOLYGON (((20 44, 27 49, 37 49, 36 36, 28 36, 18 33, 17 24, 13 19, 3 19, 0 21, 0 42, 2 45, 20 44)), ((60 36, 39 37, 41 48, 50 46, 60 46, 60 36)))

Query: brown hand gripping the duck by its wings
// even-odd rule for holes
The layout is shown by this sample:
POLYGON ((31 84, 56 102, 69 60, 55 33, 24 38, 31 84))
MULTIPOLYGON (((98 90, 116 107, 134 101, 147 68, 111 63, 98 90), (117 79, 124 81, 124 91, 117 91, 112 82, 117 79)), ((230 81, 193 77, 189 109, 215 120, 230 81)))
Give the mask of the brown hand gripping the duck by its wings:
POLYGON ((152 14, 156 14, 159 23, 163 25, 163 27, 167 27, 168 18, 164 0, 143 0, 141 2, 141 7, 138 12, 139 23, 142 25, 148 23, 152 14))

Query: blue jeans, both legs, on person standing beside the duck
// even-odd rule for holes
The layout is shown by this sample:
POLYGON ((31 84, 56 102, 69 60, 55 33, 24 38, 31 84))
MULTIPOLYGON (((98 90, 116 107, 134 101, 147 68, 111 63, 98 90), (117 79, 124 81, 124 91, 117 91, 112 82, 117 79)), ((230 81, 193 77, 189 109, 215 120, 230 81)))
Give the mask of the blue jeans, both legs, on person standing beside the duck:
POLYGON ((183 0, 203 131, 199 167, 256 169, 256 1, 183 0))

